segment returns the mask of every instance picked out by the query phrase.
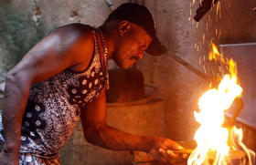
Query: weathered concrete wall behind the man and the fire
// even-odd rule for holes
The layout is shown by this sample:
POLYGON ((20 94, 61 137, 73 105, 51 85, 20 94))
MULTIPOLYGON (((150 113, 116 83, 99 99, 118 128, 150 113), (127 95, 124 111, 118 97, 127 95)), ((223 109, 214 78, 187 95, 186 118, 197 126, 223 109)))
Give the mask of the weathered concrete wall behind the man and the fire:
MULTIPOLYGON (((124 2, 128 0, 112 0, 113 8, 124 2)), ((208 55, 208 44, 211 40, 217 45, 256 40, 256 15, 252 10, 256 6, 256 1, 220 0, 219 2, 221 18, 216 20, 217 6, 215 6, 198 25, 192 24, 198 0, 195 4, 193 0, 144 0, 144 5, 152 11, 157 35, 167 46, 169 53, 184 58, 192 66, 203 71, 199 66, 199 58, 208 55), (210 22, 208 17, 211 17, 210 22), (205 34, 204 42, 203 34, 205 34)), ((0 7, 0 23, 5 25, 0 26, 0 78, 2 79, 6 70, 12 67, 29 47, 37 43, 38 39, 47 35, 50 29, 72 22, 100 26, 110 13, 104 0, 14 0, 1 3, 0 7), (19 15, 25 15, 25 18, 19 15)), ((197 108, 197 99, 208 84, 168 55, 150 57, 145 54, 144 59, 136 67, 143 71, 146 83, 154 83, 160 88, 159 95, 164 98, 165 136, 176 140, 193 139, 197 129, 193 110, 197 108)))

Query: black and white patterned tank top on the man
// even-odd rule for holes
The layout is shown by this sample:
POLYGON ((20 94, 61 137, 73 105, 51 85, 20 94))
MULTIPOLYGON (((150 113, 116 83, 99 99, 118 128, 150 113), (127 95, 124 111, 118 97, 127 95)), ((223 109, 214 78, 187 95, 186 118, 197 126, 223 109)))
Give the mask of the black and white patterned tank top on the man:
POLYGON ((97 43, 98 32, 91 30, 91 33, 94 53, 85 70, 66 69, 30 88, 22 121, 21 153, 42 157, 59 155, 80 119, 80 110, 100 94, 106 77, 97 43))

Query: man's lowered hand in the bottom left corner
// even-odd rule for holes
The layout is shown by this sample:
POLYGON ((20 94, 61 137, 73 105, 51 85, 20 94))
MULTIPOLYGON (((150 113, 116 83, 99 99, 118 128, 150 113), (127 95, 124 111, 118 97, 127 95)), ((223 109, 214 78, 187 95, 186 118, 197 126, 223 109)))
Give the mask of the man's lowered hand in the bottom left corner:
POLYGON ((16 159, 16 154, 7 153, 2 150, 0 152, 0 165, 18 165, 18 158, 16 159))

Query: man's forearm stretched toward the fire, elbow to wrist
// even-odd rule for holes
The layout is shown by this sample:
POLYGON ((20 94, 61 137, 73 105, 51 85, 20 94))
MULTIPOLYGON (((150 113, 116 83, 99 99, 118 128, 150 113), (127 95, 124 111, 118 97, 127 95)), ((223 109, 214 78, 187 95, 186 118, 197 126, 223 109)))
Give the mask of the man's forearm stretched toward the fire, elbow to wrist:
POLYGON ((154 138, 133 135, 106 124, 98 124, 85 133, 86 139, 110 150, 141 150, 149 152, 154 138))

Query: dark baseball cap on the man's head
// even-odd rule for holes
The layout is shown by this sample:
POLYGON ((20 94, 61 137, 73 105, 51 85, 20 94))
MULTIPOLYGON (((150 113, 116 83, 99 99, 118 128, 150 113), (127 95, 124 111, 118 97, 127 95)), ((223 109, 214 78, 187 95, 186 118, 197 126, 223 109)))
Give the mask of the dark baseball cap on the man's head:
POLYGON ((167 52, 166 47, 155 35, 155 23, 150 11, 144 5, 125 3, 120 5, 109 15, 107 20, 120 19, 130 21, 144 28, 149 36, 152 37, 151 44, 145 50, 152 56, 160 56, 167 52))

